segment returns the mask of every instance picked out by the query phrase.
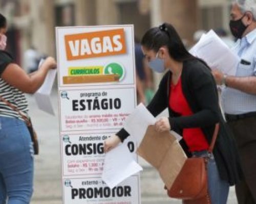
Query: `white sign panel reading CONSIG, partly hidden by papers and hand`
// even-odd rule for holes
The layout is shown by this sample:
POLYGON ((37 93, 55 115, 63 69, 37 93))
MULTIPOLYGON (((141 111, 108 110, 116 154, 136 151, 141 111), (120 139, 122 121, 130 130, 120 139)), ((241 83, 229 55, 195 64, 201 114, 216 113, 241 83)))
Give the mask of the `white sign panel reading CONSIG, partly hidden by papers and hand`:
MULTIPOLYGON (((102 174, 104 165, 103 142, 114 133, 69 134, 61 135, 62 172, 65 176, 102 174)), ((133 137, 124 143, 133 153, 136 160, 135 142, 133 137)))

